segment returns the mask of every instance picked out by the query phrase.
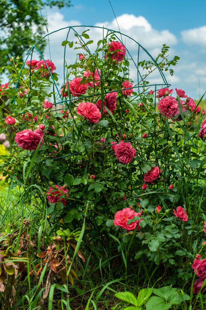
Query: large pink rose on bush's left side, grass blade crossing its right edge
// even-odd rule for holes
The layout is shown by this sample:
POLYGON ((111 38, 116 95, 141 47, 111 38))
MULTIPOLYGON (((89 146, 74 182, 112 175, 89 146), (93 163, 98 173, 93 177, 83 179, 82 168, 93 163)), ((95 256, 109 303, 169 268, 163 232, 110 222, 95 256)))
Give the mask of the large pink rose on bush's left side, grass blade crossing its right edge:
POLYGON ((41 144, 39 148, 41 148, 44 142, 44 133, 39 128, 35 131, 24 129, 23 131, 17 132, 15 135, 15 142, 24 150, 36 150, 40 140, 41 144))

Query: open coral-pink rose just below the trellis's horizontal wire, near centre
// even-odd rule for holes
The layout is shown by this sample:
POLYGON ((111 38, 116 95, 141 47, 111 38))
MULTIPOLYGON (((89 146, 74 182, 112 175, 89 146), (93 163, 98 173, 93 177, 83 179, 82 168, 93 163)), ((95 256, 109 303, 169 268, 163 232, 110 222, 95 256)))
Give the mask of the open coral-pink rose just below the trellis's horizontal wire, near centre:
POLYGON ((81 102, 77 107, 77 114, 84 116, 92 123, 98 123, 102 117, 98 107, 92 102, 81 102))

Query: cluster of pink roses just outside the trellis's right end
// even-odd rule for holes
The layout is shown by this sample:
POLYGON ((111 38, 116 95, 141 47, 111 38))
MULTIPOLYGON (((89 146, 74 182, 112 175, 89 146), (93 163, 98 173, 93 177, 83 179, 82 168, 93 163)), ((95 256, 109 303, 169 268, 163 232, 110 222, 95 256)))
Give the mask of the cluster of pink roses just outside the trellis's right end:
MULTIPOLYGON (((190 98, 187 97, 187 95, 185 95, 185 91, 183 91, 182 89, 177 89, 175 88, 177 96, 179 96, 180 98, 186 98, 186 100, 182 100, 180 99, 180 104, 181 104, 181 108, 182 108, 182 112, 186 112, 187 109, 191 109, 191 112, 194 113, 199 113, 201 108, 200 106, 197 106, 195 104, 195 101, 190 98)), ((174 98, 173 96, 169 96, 169 94, 172 94, 173 89, 169 89, 167 88, 162 88, 159 91, 157 91, 157 98, 162 98, 160 99, 160 101, 158 102, 157 108, 160 111, 161 114, 164 115, 164 117, 167 118, 171 118, 173 119, 173 116, 175 115, 179 115, 180 114, 180 109, 179 109, 179 105, 178 105, 178 99, 177 97, 174 98)), ((149 92, 151 93, 151 92, 149 92)), ((205 114, 205 111, 202 111, 202 114, 205 114)), ((181 120, 181 118, 176 118, 177 121, 181 120)), ((206 136, 206 119, 204 119, 204 121, 202 122, 202 126, 199 132, 199 138, 203 139, 206 136)))

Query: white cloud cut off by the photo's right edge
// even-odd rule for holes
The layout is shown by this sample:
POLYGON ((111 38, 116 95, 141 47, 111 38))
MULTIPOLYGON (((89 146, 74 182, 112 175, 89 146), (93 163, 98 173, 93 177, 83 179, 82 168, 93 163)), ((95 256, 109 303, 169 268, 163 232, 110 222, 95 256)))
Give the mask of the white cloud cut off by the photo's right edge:
POLYGON ((187 44, 206 45, 206 26, 181 31, 182 40, 187 44))

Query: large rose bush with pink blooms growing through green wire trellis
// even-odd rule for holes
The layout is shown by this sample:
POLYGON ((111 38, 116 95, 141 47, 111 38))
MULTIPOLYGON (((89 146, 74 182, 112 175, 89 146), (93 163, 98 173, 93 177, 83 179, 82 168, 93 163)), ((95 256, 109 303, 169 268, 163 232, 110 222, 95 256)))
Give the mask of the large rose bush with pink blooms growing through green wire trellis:
MULTIPOLYGON (((205 237, 200 212, 205 203, 205 114, 181 86, 175 97, 166 84, 150 90, 152 61, 139 62, 146 71, 143 81, 132 81, 125 69, 130 61, 125 46, 114 36, 100 40, 94 53, 88 42, 63 42, 81 48, 82 54, 78 51, 76 62, 67 65, 58 91, 51 60, 51 74, 42 60, 27 61, 19 81, 22 64, 11 62, 8 87, 1 86, 10 108, 2 117, 11 144, 2 163, 5 182, 21 189, 23 210, 32 201, 40 241, 41 229, 50 242, 57 231, 66 238, 65 231, 85 227, 85 253, 106 251, 109 245, 115 251, 113 266, 124 266, 121 255, 129 247, 128 270, 140 265, 148 270, 145 280, 143 268, 138 269, 142 286, 158 275, 189 292, 193 255, 205 237), (18 95, 23 89, 28 91, 18 95)), ((172 73, 166 50, 156 61, 172 73)), ((7 109, 5 102, 2 106, 7 109)), ((109 255, 101 255, 106 265, 109 255)), ((96 270, 101 255, 91 255, 89 270, 96 270)), ((202 279, 204 259, 200 261, 195 269, 202 279)))

